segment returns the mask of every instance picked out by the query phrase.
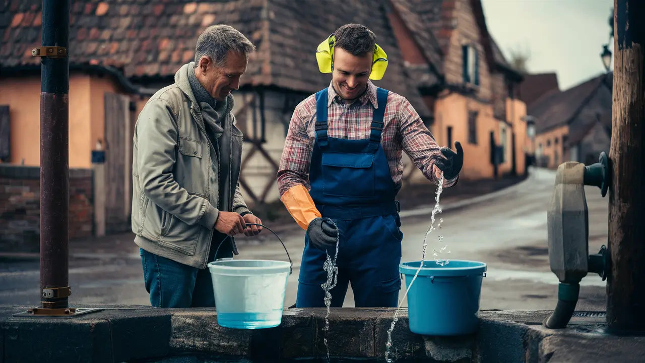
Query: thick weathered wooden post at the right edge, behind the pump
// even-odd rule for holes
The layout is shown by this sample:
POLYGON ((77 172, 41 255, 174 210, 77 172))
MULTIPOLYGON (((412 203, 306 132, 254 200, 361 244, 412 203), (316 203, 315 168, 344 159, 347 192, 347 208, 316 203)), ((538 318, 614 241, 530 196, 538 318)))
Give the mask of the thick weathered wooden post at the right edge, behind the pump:
POLYGON ((614 0, 607 330, 645 333, 645 1, 614 0))

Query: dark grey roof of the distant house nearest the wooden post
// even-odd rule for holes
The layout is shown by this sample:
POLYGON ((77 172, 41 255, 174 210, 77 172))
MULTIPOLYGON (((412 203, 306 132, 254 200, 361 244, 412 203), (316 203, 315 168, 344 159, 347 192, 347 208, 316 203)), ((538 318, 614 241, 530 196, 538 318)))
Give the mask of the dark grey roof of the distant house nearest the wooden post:
POLYGON ((540 134, 555 127, 569 125, 599 87, 611 87, 611 81, 608 80, 610 78, 602 74, 568 90, 552 90, 544 94, 526 112, 536 118, 536 132, 540 134))

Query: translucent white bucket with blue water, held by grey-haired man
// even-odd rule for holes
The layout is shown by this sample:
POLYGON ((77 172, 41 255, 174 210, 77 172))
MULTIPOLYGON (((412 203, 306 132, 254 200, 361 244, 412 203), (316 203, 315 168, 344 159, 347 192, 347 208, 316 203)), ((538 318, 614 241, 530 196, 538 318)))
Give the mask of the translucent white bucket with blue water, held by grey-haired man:
POLYGON ((236 329, 260 329, 282 322, 289 262, 217 260, 208 264, 217 324, 236 329))

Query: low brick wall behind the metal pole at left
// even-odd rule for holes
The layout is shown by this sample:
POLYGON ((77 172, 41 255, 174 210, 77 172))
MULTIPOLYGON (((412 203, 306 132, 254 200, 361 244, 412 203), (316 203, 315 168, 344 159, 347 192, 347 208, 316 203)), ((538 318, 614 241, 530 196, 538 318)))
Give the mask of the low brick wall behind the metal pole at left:
MULTIPOLYGON (((38 252, 40 168, 0 165, 0 252, 38 252)), ((92 170, 70 169, 70 238, 92 236, 92 170)))

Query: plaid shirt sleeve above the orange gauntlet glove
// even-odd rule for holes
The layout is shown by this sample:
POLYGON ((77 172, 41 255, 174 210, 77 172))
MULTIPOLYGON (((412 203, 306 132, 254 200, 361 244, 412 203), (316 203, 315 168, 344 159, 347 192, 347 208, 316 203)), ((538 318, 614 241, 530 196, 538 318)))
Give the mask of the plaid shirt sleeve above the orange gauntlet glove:
POLYGON ((313 144, 307 133, 307 126, 312 117, 313 114, 307 112, 304 107, 304 102, 293 112, 277 173, 280 196, 298 184, 309 189, 309 165, 313 144))

